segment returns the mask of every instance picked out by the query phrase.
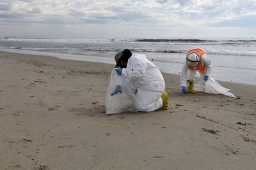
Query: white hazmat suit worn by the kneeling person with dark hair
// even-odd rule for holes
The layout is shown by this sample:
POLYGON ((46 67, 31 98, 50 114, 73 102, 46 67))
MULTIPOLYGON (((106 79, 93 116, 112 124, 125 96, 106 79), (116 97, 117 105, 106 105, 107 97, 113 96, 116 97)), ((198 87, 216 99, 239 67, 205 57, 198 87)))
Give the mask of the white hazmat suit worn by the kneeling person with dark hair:
POLYGON ((163 106, 161 98, 165 83, 159 69, 143 54, 134 54, 122 70, 122 76, 129 78, 137 89, 134 107, 140 111, 155 111, 163 106))

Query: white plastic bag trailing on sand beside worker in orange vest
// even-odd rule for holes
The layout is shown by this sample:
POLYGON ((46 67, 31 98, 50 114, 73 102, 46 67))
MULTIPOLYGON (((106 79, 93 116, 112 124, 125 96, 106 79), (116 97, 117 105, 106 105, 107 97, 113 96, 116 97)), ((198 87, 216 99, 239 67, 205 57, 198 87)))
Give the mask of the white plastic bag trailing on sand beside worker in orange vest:
POLYGON ((230 93, 230 89, 222 87, 214 78, 209 78, 207 81, 199 81, 195 85, 195 90, 209 94, 224 94, 225 96, 235 97, 230 93))

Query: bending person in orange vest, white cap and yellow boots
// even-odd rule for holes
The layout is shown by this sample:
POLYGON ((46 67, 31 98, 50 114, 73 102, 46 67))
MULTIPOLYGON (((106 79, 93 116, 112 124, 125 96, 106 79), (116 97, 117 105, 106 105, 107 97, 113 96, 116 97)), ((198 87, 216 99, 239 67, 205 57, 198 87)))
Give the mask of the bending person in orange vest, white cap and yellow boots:
POLYGON ((211 75, 211 60, 201 48, 192 48, 187 53, 186 61, 180 73, 180 85, 183 93, 195 93, 194 80, 196 71, 202 80, 207 81, 211 75), (188 83, 188 88, 187 88, 188 83))

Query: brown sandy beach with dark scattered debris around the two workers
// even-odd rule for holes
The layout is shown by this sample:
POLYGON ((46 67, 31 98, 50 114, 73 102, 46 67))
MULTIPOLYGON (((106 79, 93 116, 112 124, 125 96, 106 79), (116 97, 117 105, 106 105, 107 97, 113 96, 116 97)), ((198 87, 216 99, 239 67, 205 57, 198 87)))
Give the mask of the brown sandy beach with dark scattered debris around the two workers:
POLYGON ((255 169, 256 86, 106 115, 111 64, 0 52, 0 169, 255 169))

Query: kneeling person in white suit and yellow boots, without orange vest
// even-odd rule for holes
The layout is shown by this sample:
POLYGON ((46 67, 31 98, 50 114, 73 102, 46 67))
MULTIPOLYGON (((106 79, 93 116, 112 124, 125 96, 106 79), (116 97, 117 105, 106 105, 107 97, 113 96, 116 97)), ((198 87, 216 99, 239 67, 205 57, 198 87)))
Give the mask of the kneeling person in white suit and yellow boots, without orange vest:
MULTIPOLYGON (((115 71, 134 92, 134 108, 138 111, 167 110, 168 94, 164 92, 164 78, 159 69, 145 55, 132 55, 128 49, 115 55, 115 71)), ((122 92, 117 86, 111 95, 122 92)))

